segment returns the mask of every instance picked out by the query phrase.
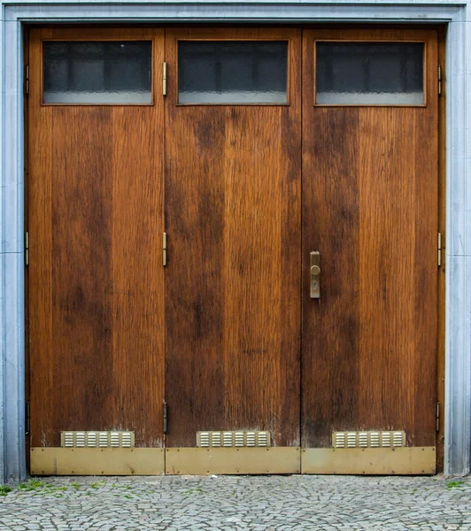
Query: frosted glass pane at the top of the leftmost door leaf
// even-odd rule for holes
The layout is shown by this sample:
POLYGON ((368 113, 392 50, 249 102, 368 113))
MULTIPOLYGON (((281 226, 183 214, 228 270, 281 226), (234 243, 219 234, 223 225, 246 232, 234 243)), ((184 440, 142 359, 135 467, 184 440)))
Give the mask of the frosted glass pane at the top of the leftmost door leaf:
POLYGON ((45 104, 151 104, 151 42, 43 42, 45 104))

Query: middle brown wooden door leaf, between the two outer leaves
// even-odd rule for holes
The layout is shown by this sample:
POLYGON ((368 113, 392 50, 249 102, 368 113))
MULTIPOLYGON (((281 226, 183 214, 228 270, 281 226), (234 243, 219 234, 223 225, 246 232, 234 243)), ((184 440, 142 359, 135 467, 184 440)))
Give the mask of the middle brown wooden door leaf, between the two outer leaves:
POLYGON ((167 446, 221 429, 299 444, 300 56, 296 29, 166 31, 167 446), (210 58, 218 42, 284 42, 284 103, 222 104, 217 88, 192 101, 184 68, 198 90, 212 66, 184 63, 182 42, 209 43, 210 58))

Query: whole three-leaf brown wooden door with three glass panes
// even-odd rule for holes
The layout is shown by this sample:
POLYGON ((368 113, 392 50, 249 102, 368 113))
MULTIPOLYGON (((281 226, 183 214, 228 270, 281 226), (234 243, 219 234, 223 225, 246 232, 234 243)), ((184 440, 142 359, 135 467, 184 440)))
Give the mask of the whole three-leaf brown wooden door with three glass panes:
POLYGON ((430 30, 32 30, 32 446, 435 446, 436 48, 430 30))

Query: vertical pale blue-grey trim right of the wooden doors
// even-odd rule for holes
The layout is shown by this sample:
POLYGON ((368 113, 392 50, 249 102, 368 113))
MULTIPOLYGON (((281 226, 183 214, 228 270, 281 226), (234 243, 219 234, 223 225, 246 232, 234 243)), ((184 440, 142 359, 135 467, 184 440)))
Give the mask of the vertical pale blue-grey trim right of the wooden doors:
MULTIPOLYGON (((471 3, 470 3, 471 4, 471 3)), ((469 4, 450 24, 446 42, 446 318, 445 473, 470 472, 471 462, 471 38, 469 4)))

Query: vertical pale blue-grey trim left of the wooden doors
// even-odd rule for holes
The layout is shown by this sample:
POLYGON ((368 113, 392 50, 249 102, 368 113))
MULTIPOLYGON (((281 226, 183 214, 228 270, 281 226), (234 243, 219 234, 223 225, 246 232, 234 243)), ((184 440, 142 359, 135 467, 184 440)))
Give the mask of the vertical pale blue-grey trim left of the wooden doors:
POLYGON ((21 24, 3 25, 2 56, 2 323, 4 481, 26 473, 23 62, 21 24))

